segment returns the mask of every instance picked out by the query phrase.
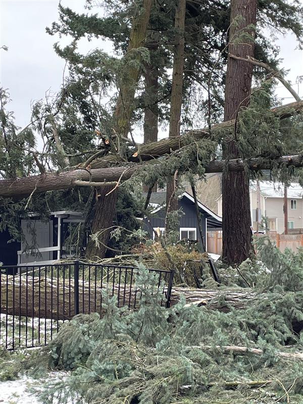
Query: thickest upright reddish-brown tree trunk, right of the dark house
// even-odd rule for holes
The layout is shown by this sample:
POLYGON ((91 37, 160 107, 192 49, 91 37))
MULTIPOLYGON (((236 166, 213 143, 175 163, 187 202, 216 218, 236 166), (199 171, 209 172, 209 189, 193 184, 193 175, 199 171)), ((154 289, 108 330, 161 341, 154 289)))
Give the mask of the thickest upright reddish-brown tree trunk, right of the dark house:
MULTIPOLYGON (((233 42, 245 32, 245 27, 256 24, 256 16, 256 0, 232 0, 229 54, 242 58, 254 57, 254 41, 242 37, 239 44, 233 42), (236 18, 238 20, 235 23, 236 18)), ((255 36, 252 28, 246 32, 252 37, 255 36)), ((236 119, 238 111, 249 104, 252 69, 253 66, 246 62, 228 59, 224 121, 236 119)), ((225 159, 240 157, 234 141, 226 143, 223 156, 225 159)), ((240 264, 252 252, 249 178, 245 172, 223 172, 222 203, 223 260, 229 265, 240 264)))

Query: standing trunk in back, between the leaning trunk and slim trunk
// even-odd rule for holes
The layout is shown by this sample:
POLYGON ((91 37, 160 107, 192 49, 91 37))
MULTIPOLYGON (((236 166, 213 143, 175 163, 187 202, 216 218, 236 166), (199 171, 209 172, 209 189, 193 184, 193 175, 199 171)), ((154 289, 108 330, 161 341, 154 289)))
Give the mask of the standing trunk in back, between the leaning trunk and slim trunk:
MULTIPOLYGON (((157 51, 157 45, 148 44, 150 63, 145 66, 145 108, 144 108, 144 144, 158 140, 158 68, 154 63, 153 56, 157 51)), ((149 185, 143 185, 143 192, 148 192, 149 185)), ((152 192, 157 192, 157 184, 152 192)))

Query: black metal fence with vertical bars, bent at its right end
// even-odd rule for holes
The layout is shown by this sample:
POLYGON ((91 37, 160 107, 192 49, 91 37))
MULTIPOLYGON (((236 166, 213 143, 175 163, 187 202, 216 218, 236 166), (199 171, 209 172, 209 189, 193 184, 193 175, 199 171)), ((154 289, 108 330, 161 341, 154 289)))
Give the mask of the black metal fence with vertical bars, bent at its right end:
MULTIPOLYGON (((105 311, 102 290, 117 297, 118 307, 135 309, 140 291, 138 268, 75 261, 45 266, 0 267, 0 348, 14 350, 47 344, 64 321, 76 314, 105 311)), ((169 307, 173 271, 149 269, 161 304, 169 307)))

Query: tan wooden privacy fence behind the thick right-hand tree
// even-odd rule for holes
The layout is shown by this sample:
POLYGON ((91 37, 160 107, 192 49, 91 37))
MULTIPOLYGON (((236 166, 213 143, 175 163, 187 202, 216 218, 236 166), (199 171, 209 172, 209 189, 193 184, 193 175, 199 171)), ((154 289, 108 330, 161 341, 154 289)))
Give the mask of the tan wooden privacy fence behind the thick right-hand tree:
MULTIPOLYGON (((264 234, 254 234, 254 236, 264 237, 264 234)), ((303 247, 303 234, 266 234, 266 236, 281 252, 284 252, 285 248, 296 252, 299 247, 303 247)), ((207 234, 207 250, 213 254, 221 254, 222 232, 209 232, 207 234)))

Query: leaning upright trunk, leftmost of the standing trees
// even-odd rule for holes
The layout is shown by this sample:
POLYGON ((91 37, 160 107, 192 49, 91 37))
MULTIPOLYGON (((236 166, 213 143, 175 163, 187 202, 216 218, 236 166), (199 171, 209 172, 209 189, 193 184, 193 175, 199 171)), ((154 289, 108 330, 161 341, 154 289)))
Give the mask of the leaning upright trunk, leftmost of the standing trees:
MULTIPOLYGON (((143 0, 142 8, 140 8, 138 14, 134 16, 127 53, 124 56, 126 66, 128 59, 137 58, 139 62, 141 61, 140 57, 135 54, 135 56, 133 56, 133 50, 144 46, 152 3, 153 0, 143 0)), ((125 72, 121 72, 119 96, 116 104, 113 127, 113 134, 120 138, 119 141, 121 141, 121 136, 127 137, 130 129, 130 120, 133 113, 134 97, 140 71, 140 64, 132 63, 129 68, 125 69, 125 72)), ((107 227, 112 225, 112 220, 116 216, 116 198, 116 192, 110 193, 106 198, 98 198, 95 215, 91 223, 93 232, 104 229, 105 225, 107 227), (110 209, 110 211, 108 209, 110 209)), ((102 237, 103 241, 107 241, 108 234, 106 232, 103 234, 105 237, 104 239, 102 237)), ((107 242, 103 242, 102 245, 103 246, 98 247, 95 243, 89 242, 86 249, 86 256, 104 258, 107 242)))

